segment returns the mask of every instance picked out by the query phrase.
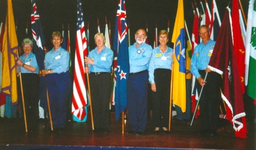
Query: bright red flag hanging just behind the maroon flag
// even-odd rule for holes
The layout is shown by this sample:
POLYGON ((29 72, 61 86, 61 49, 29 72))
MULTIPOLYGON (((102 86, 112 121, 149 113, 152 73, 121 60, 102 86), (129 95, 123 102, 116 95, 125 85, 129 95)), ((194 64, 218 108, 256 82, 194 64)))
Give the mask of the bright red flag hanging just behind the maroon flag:
POLYGON ((237 66, 239 72, 239 78, 242 87, 242 93, 244 93, 244 73, 245 73, 245 47, 243 43, 241 27, 239 23, 239 10, 238 0, 233 0, 232 7, 232 37, 234 43, 234 51, 237 59, 237 66))

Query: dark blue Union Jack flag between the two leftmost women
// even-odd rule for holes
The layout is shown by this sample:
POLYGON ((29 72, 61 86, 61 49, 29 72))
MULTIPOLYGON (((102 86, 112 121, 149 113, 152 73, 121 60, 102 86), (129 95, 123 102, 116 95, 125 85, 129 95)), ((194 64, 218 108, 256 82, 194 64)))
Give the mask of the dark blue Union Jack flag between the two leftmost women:
POLYGON ((40 22, 39 14, 36 11, 36 3, 34 0, 31 2, 31 27, 33 34, 33 49, 36 56, 36 61, 40 70, 44 70, 44 50, 43 46, 45 44, 44 41, 44 33, 42 29, 42 25, 40 22))

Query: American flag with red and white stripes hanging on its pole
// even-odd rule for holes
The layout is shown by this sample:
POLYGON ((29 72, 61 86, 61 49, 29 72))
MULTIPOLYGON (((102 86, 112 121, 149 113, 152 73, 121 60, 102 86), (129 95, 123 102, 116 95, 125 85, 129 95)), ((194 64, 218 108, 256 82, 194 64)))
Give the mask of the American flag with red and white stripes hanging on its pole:
POLYGON ((87 40, 85 36, 83 10, 80 0, 77 0, 77 31, 76 31, 76 56, 74 67, 74 84, 72 96, 72 114, 83 120, 84 106, 87 104, 86 84, 84 77, 84 57, 87 56, 87 40))

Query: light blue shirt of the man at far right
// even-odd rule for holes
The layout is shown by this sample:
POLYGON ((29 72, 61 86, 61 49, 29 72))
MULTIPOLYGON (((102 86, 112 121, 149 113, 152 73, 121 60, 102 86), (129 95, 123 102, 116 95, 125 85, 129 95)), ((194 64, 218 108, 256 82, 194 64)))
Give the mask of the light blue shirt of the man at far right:
POLYGON ((201 77, 198 70, 206 70, 212 56, 214 45, 215 41, 212 41, 210 39, 206 43, 206 45, 201 42, 195 47, 191 58, 191 73, 193 73, 196 79, 198 79, 198 77, 201 77))

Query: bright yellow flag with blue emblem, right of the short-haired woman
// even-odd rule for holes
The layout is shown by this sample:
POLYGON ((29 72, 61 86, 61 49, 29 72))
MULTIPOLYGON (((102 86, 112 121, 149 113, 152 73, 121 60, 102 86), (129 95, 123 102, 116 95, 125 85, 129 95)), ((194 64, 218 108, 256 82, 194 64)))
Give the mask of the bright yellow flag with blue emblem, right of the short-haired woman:
POLYGON ((178 105, 182 112, 186 112, 186 51, 184 29, 183 0, 179 0, 177 15, 172 34, 173 52, 173 104, 178 105))

